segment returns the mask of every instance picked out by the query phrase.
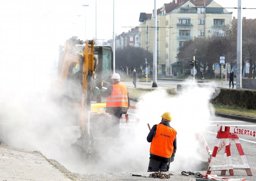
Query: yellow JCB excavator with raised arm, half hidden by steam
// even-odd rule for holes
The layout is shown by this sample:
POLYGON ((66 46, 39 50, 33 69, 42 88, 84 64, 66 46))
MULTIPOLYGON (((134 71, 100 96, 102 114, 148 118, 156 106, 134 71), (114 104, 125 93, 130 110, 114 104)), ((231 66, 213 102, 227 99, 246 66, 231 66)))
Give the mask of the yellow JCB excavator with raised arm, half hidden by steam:
MULTIPOLYGON (((94 87, 107 89, 113 73, 113 51, 107 45, 95 45, 94 40, 82 41, 73 36, 59 46, 58 99, 66 105, 80 107, 81 137, 75 146, 90 157, 94 144, 90 115, 106 110, 106 98, 96 95, 94 87)), ((95 121, 95 120, 94 120, 95 121)))

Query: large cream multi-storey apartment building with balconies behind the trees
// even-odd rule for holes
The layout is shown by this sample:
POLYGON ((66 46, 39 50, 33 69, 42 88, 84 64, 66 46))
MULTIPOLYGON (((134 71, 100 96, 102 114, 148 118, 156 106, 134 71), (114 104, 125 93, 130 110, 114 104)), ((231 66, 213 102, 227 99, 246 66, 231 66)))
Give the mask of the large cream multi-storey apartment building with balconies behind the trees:
MULTIPOLYGON (((153 11, 154 13, 154 11, 153 11)), ((138 38, 140 47, 153 53, 154 17, 140 13, 138 38)), ((182 60, 179 48, 194 37, 223 36, 232 22, 228 12, 213 0, 173 0, 157 10, 157 72, 179 76, 182 60)), ((191 55, 191 60, 193 55, 191 55)))

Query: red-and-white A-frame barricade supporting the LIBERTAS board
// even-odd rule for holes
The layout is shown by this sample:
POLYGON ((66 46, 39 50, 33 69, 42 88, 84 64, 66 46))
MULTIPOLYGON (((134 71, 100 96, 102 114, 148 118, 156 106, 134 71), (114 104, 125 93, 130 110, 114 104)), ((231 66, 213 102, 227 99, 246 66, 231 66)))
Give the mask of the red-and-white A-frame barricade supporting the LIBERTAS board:
POLYGON ((229 170, 229 175, 234 175, 234 169, 239 169, 239 170, 245 170, 248 176, 252 176, 251 168, 250 168, 250 166, 247 162, 247 159, 244 155, 244 151, 240 144, 237 134, 243 134, 243 135, 248 134, 247 136, 255 137, 255 131, 244 130, 244 129, 240 129, 237 127, 227 127, 227 126, 222 126, 222 125, 217 125, 217 126, 218 126, 218 130, 219 130, 218 134, 217 134, 217 141, 214 146, 212 158, 209 163, 206 174, 209 175, 209 174, 211 174, 211 171, 221 170, 221 174, 225 175, 226 170, 229 170), (226 165, 213 166, 217 153, 224 146, 224 145, 223 146, 220 145, 221 139, 224 139, 224 143, 225 143, 224 158, 225 158, 226 165), (236 148, 237 148, 240 158, 243 162, 242 165, 232 164, 231 153, 230 153, 230 145, 231 145, 232 140, 234 140, 236 143, 236 148))

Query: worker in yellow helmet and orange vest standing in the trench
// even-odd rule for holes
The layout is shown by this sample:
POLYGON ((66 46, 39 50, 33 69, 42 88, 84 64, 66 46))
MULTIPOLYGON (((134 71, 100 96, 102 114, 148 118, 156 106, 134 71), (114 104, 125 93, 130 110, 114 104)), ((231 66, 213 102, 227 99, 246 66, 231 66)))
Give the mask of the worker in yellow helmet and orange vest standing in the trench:
POLYGON ((169 171, 177 149, 177 132, 170 126, 170 112, 164 112, 161 117, 161 122, 152 127, 147 137, 151 142, 148 172, 169 171))

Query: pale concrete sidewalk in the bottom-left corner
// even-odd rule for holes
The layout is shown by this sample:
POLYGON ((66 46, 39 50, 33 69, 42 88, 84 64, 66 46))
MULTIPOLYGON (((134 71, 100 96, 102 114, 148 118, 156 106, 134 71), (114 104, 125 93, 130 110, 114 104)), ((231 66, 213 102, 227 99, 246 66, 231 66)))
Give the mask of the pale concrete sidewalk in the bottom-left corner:
POLYGON ((43 155, 20 148, 0 145, 0 180, 70 181, 43 155))

